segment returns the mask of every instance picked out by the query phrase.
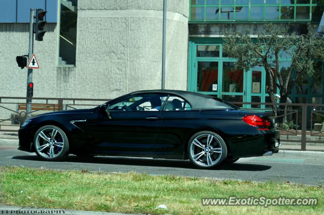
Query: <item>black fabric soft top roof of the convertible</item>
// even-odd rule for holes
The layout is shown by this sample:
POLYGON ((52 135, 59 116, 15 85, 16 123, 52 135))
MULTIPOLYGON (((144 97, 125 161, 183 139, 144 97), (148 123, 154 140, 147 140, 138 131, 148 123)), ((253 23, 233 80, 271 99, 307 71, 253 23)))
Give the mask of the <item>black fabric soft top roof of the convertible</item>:
POLYGON ((167 93, 177 95, 184 98, 191 105, 191 109, 201 110, 201 109, 219 109, 219 108, 238 108, 237 106, 230 104, 228 102, 222 101, 210 95, 205 95, 197 92, 188 92, 183 90, 141 90, 130 93, 131 95, 141 94, 141 93, 167 93), (221 105, 216 105, 221 103, 221 105))

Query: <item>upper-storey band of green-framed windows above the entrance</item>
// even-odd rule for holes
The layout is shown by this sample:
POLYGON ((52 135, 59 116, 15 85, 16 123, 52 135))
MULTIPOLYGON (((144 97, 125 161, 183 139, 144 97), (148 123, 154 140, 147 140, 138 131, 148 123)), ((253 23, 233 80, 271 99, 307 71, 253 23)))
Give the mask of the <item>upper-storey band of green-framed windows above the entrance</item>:
POLYGON ((189 3, 189 23, 318 23, 324 11, 321 0, 190 0, 189 3))

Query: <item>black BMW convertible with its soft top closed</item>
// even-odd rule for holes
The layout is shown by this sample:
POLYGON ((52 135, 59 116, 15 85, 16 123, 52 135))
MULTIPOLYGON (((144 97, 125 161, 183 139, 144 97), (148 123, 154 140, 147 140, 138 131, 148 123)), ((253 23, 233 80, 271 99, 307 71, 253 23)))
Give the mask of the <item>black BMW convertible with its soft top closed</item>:
POLYGON ((19 129, 19 149, 45 160, 122 155, 190 159, 211 168, 278 150, 273 117, 200 93, 137 91, 94 109, 29 118, 19 129))

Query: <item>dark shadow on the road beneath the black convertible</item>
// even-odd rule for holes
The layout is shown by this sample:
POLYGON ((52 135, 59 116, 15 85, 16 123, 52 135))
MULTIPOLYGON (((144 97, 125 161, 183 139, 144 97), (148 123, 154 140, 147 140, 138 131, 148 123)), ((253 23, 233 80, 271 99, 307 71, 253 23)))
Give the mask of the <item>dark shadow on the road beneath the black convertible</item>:
MULTIPOLYGON (((36 155, 14 156, 12 159, 34 160, 44 163, 55 163, 41 160, 36 155)), ((88 163, 88 164, 110 164, 110 165, 130 165, 130 166, 148 166, 148 167, 172 167, 172 168, 195 168, 189 160, 167 160, 167 159, 151 159, 151 158, 134 158, 134 157, 78 157, 74 155, 68 156, 63 163, 88 163)), ((214 170, 230 170, 230 171, 265 171, 271 166, 257 164, 226 164, 219 165, 214 170)))

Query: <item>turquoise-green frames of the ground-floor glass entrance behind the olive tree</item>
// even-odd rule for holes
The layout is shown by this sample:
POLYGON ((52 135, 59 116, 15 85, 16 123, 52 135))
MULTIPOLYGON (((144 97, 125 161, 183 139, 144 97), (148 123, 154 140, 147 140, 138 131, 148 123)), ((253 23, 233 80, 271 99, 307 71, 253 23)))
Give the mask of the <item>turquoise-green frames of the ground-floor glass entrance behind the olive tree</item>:
MULTIPOLYGON (((261 97, 261 102, 266 102, 267 98, 269 98, 269 94, 266 93, 266 74, 265 69, 261 67, 261 86, 259 92, 253 91, 253 68, 250 68, 248 71, 244 72, 244 86, 245 92, 224 92, 223 91, 223 62, 236 62, 235 59, 228 58, 224 55, 223 52, 223 40, 222 38, 190 38, 189 41, 189 50, 188 50, 188 90, 193 92, 199 92, 203 94, 215 95, 217 97, 223 97, 224 95, 243 95, 244 102, 252 102, 253 97, 261 97), (209 56, 201 56, 197 55, 197 47, 198 46, 218 46, 217 49, 219 51, 219 55, 217 57, 209 56), (218 63, 218 75, 217 75, 217 90, 216 91, 199 91, 197 88, 197 67, 198 62, 217 62, 218 63)), ((291 57, 288 55, 282 55, 280 57, 280 65, 284 65, 285 63, 291 62, 291 57)), ((321 63, 321 91, 317 93, 313 93, 310 88, 310 84, 307 85, 307 93, 298 94, 296 91, 296 86, 294 86, 292 90, 292 94, 289 97, 295 100, 297 97, 307 98, 307 101, 311 103, 311 100, 314 98, 321 98, 324 101, 324 62, 321 63)), ((281 66, 280 66, 281 69, 281 66)), ((294 74, 293 74, 294 76, 294 74)), ((311 77, 308 77, 307 83, 310 83, 312 80, 311 77)), ((279 88, 276 89, 276 93, 280 95, 279 88)), ((277 100, 278 102, 278 100, 277 100)), ((253 105, 245 104, 244 108, 255 108, 253 105)), ((261 108, 265 108, 265 105, 261 105, 261 108)))

